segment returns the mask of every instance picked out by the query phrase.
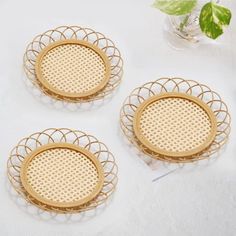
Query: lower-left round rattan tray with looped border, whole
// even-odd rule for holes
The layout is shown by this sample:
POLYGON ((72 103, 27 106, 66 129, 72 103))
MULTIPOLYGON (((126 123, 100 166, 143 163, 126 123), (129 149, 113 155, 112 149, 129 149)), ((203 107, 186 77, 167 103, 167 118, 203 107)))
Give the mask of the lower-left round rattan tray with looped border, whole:
POLYGON ((105 202, 114 191, 117 167, 93 136, 48 129, 23 139, 8 161, 13 187, 44 210, 81 212, 105 202))

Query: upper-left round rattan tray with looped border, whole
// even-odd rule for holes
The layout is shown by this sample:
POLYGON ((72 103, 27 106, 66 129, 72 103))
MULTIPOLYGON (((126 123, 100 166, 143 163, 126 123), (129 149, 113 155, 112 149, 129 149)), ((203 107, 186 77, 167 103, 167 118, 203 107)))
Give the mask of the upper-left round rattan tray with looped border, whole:
POLYGON ((24 68, 30 81, 57 100, 103 98, 120 83, 123 62, 101 33, 62 26, 37 36, 27 47, 24 68))

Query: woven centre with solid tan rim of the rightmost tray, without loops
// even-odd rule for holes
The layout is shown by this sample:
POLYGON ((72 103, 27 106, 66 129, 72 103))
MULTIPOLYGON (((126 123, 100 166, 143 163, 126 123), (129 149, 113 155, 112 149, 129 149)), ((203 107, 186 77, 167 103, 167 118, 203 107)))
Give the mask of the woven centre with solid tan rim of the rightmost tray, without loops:
POLYGON ((171 157, 192 156, 216 135, 216 118, 200 99, 181 93, 153 96, 137 109, 134 133, 151 151, 171 157))

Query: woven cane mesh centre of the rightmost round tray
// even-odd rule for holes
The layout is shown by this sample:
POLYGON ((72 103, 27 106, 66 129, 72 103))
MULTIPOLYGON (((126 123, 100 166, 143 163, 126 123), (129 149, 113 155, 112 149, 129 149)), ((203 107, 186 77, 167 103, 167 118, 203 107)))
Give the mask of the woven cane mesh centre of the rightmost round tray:
POLYGON ((142 111, 139 126, 148 142, 168 152, 196 149, 211 133, 206 111, 183 98, 163 98, 149 104, 142 111))

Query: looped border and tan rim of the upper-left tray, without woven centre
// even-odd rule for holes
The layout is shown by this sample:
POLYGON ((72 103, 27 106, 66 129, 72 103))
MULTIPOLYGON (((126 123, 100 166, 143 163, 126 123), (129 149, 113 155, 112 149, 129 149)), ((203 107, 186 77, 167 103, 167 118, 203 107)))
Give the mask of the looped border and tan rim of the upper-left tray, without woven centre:
POLYGON ((115 47, 114 43, 107 39, 103 34, 89 28, 79 26, 61 26, 53 30, 48 30, 43 34, 36 36, 27 46, 24 55, 24 69, 28 79, 44 94, 61 101, 83 103, 95 101, 104 98, 110 94, 121 82, 123 75, 123 60, 120 51, 115 47), (104 81, 95 90, 85 94, 65 94, 58 93, 48 84, 42 83, 40 76, 37 76, 37 60, 40 54, 45 52, 47 47, 59 42, 83 42, 95 51, 105 60, 107 68, 104 81), (109 77, 109 78, 108 78, 109 77), (46 84, 46 86, 45 86, 46 84))

